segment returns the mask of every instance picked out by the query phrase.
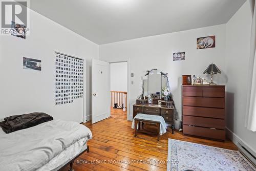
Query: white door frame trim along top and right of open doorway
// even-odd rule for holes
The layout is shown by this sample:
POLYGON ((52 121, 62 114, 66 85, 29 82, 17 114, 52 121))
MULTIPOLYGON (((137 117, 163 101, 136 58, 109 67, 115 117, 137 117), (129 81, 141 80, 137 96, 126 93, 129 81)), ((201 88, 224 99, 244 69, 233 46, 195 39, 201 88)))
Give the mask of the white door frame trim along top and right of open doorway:
MULTIPOLYGON (((130 82, 131 82, 131 71, 130 71, 130 58, 127 60, 116 60, 116 61, 110 61, 109 63, 120 63, 120 62, 127 62, 127 106, 126 106, 126 112, 127 112, 127 120, 133 120, 133 114, 130 115, 130 82)), ((111 66, 110 66, 111 67, 111 66)), ((111 68, 110 68, 111 69, 111 68)), ((110 106, 111 107, 111 106, 110 106)))

